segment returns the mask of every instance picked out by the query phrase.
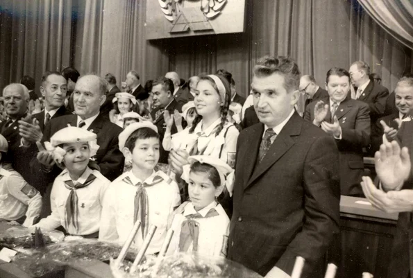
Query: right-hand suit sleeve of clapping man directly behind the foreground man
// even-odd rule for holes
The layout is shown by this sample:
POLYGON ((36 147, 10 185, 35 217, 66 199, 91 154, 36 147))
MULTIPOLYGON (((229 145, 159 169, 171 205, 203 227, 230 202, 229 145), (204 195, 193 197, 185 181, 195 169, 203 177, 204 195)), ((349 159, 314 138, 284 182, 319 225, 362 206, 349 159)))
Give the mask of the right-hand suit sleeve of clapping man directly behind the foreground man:
POLYGON ((362 103, 355 119, 354 129, 342 128, 342 139, 337 141, 339 149, 366 147, 370 144, 369 107, 362 103))

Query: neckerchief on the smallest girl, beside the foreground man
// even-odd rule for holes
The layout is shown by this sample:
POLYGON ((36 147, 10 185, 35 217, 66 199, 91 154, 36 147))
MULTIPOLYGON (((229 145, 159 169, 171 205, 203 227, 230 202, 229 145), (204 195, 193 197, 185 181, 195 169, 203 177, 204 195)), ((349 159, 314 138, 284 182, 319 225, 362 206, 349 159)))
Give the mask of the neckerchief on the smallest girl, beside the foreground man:
POLYGON ((219 216, 216 209, 212 208, 208 211, 205 217, 201 214, 189 214, 186 216, 186 220, 183 221, 180 229, 179 235, 179 251, 187 252, 189 246, 192 244, 192 251, 196 252, 198 250, 198 239, 199 239, 199 223, 196 222, 196 218, 210 218, 214 216, 219 216))

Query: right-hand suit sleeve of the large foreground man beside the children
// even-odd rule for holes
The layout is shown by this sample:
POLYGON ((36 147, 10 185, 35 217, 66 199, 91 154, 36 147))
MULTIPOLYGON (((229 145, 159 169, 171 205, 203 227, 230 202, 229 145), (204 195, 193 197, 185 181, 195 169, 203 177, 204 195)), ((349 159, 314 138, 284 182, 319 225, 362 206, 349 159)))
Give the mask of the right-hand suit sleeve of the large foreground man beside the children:
POLYGON ((290 275, 296 256, 305 259, 305 268, 311 268, 339 233, 339 153, 331 137, 318 137, 310 147, 304 161, 303 190, 303 229, 276 263, 290 275))

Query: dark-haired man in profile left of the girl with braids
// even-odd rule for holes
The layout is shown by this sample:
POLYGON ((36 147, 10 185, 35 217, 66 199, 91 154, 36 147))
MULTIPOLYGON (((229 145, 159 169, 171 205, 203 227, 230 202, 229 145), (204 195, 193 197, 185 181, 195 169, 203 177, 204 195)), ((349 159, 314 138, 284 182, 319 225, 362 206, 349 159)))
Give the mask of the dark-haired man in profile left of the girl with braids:
MULTIPOLYGON (((182 106, 175 100, 172 96, 174 90, 174 83, 169 78, 160 77, 153 80, 152 83, 152 94, 153 94, 153 105, 155 109, 151 111, 151 117, 153 119, 153 124, 158 128, 158 133, 160 137, 160 154, 159 162, 168 163, 169 152, 164 150, 162 147, 162 141, 165 136, 166 123, 164 119, 165 110, 169 111, 169 114, 174 114, 175 110, 182 112, 182 106)), ((176 125, 172 125, 171 134, 177 132, 176 125)))

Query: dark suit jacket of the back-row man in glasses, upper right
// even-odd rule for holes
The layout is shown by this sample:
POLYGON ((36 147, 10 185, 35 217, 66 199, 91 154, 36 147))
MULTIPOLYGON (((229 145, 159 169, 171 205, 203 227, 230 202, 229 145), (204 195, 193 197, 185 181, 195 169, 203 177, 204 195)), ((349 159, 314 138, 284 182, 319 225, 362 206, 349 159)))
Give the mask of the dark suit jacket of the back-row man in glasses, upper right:
POLYGON ((389 90, 386 87, 370 81, 360 98, 357 99, 369 105, 371 123, 376 123, 379 118, 386 116, 385 107, 388 96, 389 90))

